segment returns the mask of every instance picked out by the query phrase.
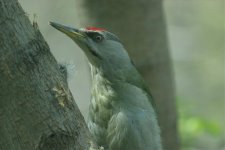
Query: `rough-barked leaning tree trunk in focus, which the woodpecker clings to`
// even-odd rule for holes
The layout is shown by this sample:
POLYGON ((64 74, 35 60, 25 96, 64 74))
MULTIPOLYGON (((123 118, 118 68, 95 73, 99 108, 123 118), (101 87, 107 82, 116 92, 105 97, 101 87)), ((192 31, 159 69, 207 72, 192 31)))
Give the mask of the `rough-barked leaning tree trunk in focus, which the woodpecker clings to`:
POLYGON ((88 135, 37 24, 0 0, 0 150, 85 150, 88 135))

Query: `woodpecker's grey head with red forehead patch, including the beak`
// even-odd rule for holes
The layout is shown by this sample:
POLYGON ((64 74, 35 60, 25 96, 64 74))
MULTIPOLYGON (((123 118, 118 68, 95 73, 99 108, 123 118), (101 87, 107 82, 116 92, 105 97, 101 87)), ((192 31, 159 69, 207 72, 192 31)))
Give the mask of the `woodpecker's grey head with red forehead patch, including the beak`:
POLYGON ((126 69, 131 60, 119 38, 102 28, 76 29, 50 22, 69 36, 84 51, 91 65, 105 70, 126 69))

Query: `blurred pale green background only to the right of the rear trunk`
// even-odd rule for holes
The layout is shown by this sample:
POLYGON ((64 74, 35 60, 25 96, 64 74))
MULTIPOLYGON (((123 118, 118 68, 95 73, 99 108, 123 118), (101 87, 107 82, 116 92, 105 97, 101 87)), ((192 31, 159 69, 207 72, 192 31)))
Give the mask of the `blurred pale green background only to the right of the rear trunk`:
MULTIPOLYGON (((224 149, 224 1, 165 1, 183 147, 224 149)), ((192 148, 192 149, 193 149, 192 148)))

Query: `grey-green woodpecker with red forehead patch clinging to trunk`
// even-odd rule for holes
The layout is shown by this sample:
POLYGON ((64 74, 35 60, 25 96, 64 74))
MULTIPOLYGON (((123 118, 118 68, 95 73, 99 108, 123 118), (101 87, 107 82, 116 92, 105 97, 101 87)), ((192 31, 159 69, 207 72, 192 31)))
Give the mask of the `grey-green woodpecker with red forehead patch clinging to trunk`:
POLYGON ((102 28, 50 22, 87 56, 92 76, 87 125, 104 150, 162 150, 151 94, 120 39, 102 28))

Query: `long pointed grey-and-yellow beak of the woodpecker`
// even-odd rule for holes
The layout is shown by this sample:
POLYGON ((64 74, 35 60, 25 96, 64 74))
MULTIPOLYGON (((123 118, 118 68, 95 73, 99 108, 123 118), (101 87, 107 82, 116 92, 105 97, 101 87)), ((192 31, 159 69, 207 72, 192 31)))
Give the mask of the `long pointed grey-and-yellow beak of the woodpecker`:
POLYGON ((61 31, 62 33, 68 35, 72 39, 80 39, 80 38, 85 38, 86 35, 81 33, 78 29, 71 28, 69 26, 61 25, 55 22, 49 22, 51 26, 56 28, 57 30, 61 31))

